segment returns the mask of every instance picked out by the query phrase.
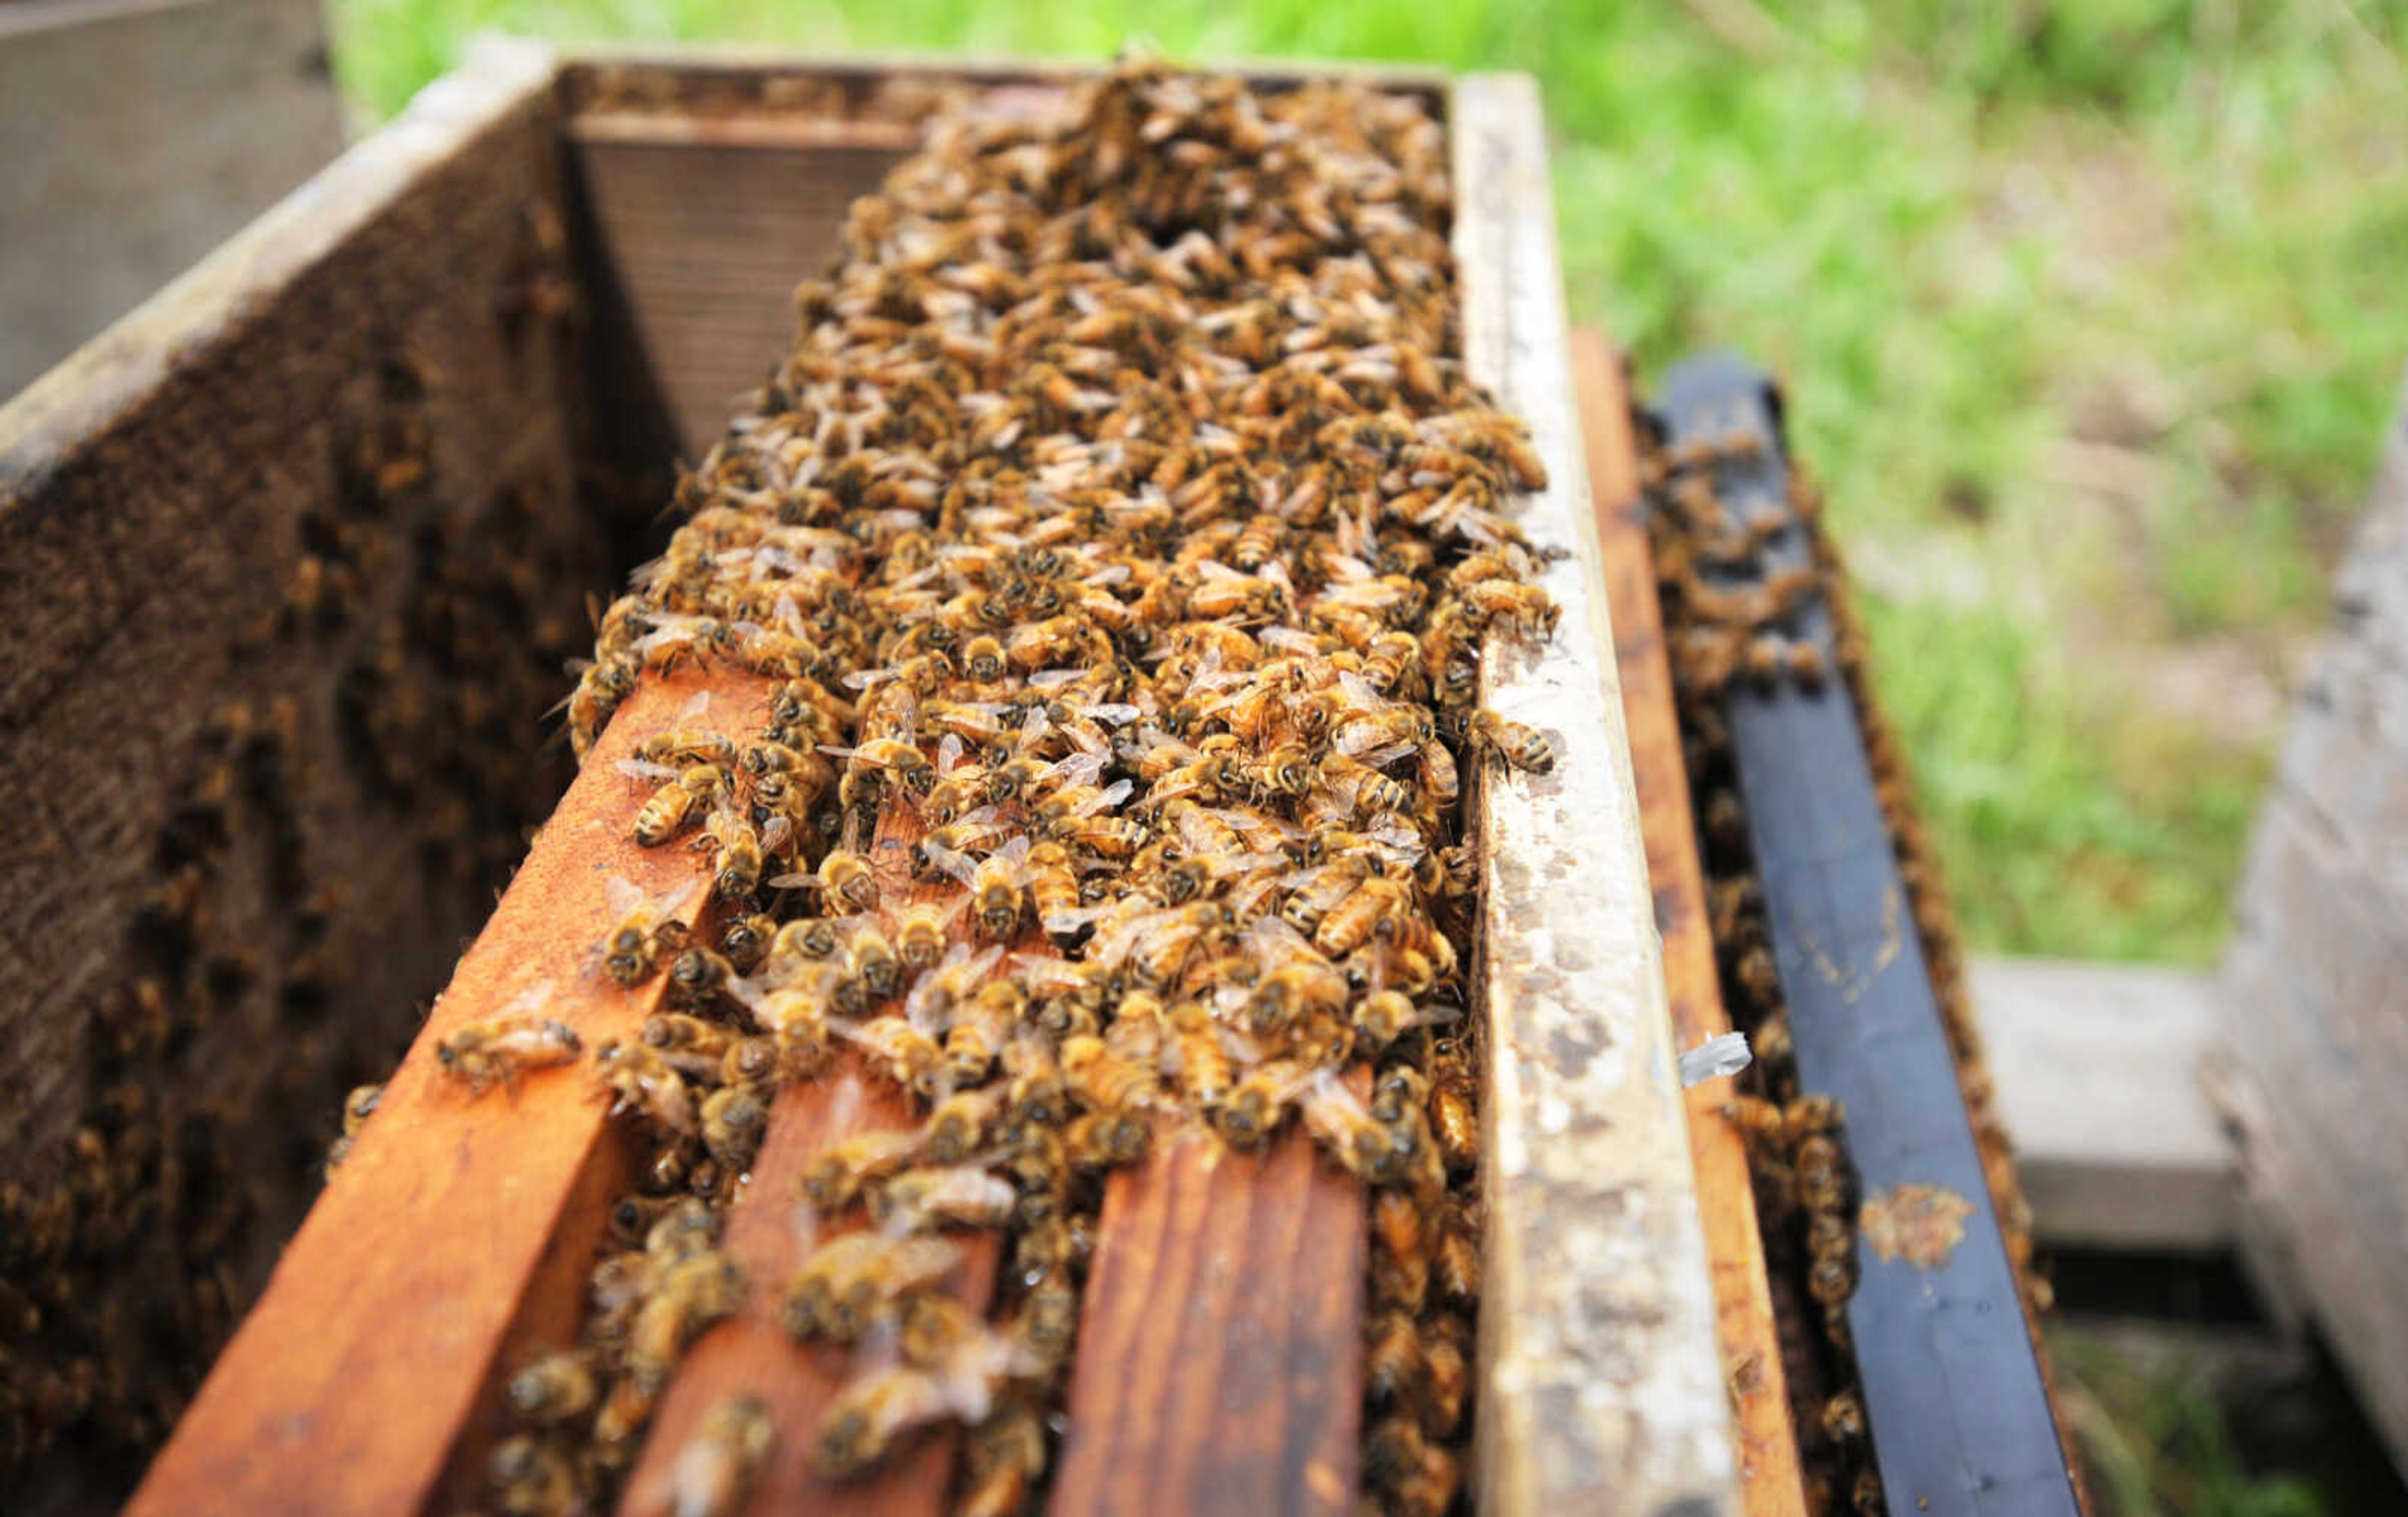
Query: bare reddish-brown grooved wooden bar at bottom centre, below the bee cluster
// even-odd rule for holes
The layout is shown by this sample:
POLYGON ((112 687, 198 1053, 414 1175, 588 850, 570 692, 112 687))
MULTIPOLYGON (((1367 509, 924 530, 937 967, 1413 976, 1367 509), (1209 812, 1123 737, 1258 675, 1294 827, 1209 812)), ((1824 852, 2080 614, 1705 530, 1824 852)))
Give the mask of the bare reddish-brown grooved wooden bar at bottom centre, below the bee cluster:
POLYGON ((1351 1512, 1363 1187, 1288 1129, 1187 1129, 1103 1197, 1050 1510, 1351 1512))

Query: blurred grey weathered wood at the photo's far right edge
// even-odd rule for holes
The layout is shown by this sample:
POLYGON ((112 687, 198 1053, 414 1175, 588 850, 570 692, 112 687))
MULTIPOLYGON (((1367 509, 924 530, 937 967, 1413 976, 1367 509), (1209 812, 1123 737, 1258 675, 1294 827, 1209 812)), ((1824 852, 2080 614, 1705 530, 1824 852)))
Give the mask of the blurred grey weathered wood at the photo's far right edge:
POLYGON ((2408 1464, 2408 405, 2333 583, 2218 973, 2244 1242, 2408 1464))

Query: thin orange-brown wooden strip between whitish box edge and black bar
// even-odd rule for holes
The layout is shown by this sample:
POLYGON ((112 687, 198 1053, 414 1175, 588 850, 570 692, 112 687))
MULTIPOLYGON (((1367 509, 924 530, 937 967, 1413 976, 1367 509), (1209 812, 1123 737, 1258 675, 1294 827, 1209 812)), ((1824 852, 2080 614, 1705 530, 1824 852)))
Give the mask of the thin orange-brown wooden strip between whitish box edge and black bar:
MULTIPOLYGON (((1657 927, 1664 934, 1664 987, 1681 1047, 1731 1031, 1714 975, 1714 939, 1705 910, 1705 869, 1690 821, 1688 773, 1681 761, 1681 720, 1664 650, 1654 556, 1640 503, 1630 395, 1604 335, 1572 332, 1572 376, 1580 429, 1589 453, 1589 496, 1604 549, 1606 600, 1613 612, 1613 655, 1630 732, 1630 768, 1640 792, 1640 831, 1657 927)), ((1801 1517, 1796 1428, 1782 1375, 1765 1279, 1765 1247, 1755 1230, 1755 1190, 1748 1153, 1724 1115, 1729 1081, 1688 1093, 1688 1139, 1698 1165, 1698 1211, 1714 1274, 1714 1327, 1739 1418, 1741 1500, 1751 1517, 1801 1517)))

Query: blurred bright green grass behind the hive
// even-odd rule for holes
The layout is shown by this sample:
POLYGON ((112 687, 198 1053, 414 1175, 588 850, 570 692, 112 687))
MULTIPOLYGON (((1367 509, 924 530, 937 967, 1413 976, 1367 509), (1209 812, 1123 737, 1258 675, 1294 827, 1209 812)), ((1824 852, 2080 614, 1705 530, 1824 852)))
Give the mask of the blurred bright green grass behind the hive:
POLYGON ((2408 354, 2396 5, 330 12, 371 118, 486 26, 1531 70, 1575 315, 1606 323, 1642 380, 1707 342, 1789 380, 1972 944, 2158 961, 2220 944, 2408 354))

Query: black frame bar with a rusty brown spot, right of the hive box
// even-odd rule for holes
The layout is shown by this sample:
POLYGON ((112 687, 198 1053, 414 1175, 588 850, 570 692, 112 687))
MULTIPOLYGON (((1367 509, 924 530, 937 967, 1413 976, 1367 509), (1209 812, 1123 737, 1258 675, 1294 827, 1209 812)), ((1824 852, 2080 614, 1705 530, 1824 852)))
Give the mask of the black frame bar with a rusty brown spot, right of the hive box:
MULTIPOLYGON (((1664 378, 1657 417, 1669 445, 1753 436, 1753 453, 1719 453, 1714 494, 1741 520, 1789 520, 1760 573, 1813 566, 1770 378, 1736 354, 1690 359, 1664 378)), ((1784 631, 1837 669, 1820 602, 1784 631)), ((1837 677, 1736 679, 1724 710, 1799 1079, 1845 1103, 1869 1202, 1917 1185, 1970 1204, 1931 1267, 1883 1259, 1859 1228, 1847 1322, 1890 1512, 2078 1512, 1854 701, 1837 677)))

